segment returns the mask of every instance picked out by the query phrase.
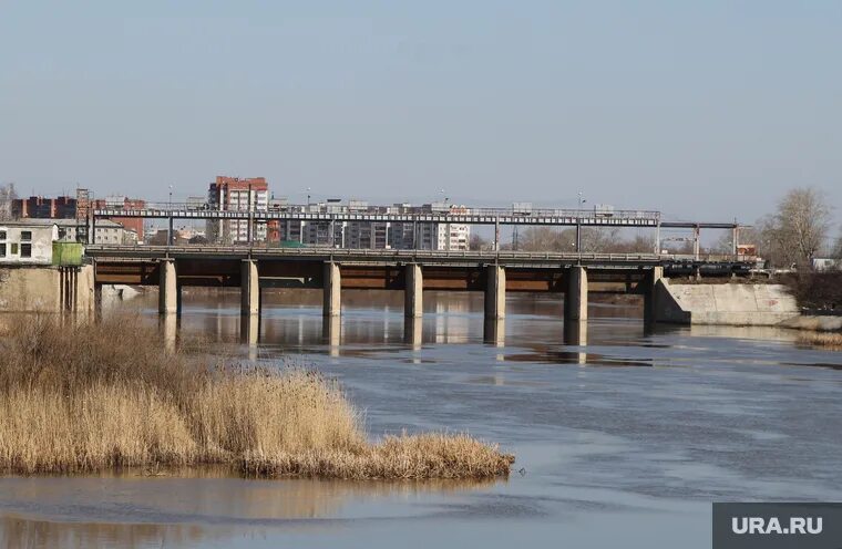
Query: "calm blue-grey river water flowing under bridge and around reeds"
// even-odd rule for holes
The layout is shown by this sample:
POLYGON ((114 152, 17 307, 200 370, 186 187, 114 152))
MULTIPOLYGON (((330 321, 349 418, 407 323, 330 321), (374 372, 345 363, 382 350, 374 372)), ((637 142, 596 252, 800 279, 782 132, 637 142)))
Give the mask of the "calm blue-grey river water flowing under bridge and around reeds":
MULTIPOLYGON (((154 297, 136 301, 154 321, 154 297)), ((127 303, 121 307, 132 307, 127 303)), ((184 297, 181 330, 237 342, 238 296, 184 297)), ((710 547, 711 501, 839 500, 842 353, 773 329, 645 331, 639 305, 593 305, 586 345, 562 303, 424 294, 407 339, 398 292, 265 292, 251 359, 339 379, 372 437, 468 431, 516 455, 487 483, 166 477, 0 478, 0 548, 710 547)))

